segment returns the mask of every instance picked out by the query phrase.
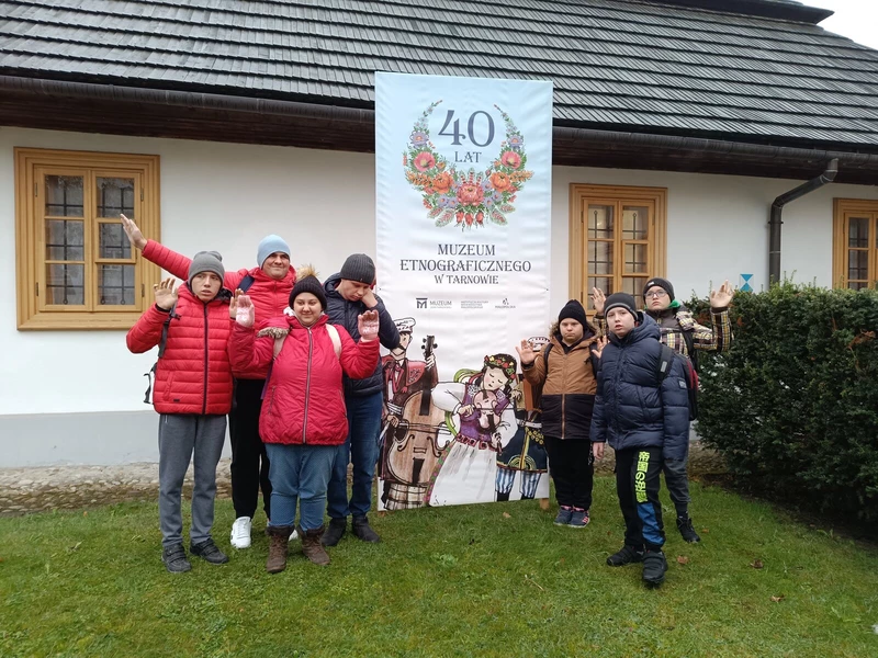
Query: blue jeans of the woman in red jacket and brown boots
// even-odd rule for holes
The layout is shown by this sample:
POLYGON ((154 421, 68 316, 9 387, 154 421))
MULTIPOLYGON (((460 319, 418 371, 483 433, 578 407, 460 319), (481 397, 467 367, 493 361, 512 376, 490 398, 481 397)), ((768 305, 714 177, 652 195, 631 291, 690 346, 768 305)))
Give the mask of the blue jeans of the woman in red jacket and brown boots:
POLYGON ((323 525, 326 486, 333 470, 336 445, 283 445, 266 443, 271 479, 271 522, 269 525, 299 524, 302 530, 323 525))

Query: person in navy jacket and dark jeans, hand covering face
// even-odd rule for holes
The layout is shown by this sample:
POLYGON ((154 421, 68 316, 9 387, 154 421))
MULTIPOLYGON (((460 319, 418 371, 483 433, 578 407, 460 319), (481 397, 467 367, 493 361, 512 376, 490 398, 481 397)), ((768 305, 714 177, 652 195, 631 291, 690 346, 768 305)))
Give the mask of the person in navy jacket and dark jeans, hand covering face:
MULTIPOLYGON (((324 283, 326 315, 334 325, 341 325, 353 340, 360 339, 357 318, 368 310, 379 316, 378 337, 387 350, 399 347, 399 331, 384 303, 372 292, 375 263, 364 253, 353 253, 341 265, 341 272, 324 283)), ((335 546, 353 517, 353 534, 363 542, 379 542, 378 533, 369 525, 367 513, 372 506, 372 479, 378 463, 378 438, 384 409, 384 371, 381 363, 363 379, 345 376, 345 406, 350 430, 348 439, 338 446, 333 477, 326 495, 329 527, 323 535, 325 546, 335 546), (348 463, 353 464, 353 486, 348 500, 348 463)))

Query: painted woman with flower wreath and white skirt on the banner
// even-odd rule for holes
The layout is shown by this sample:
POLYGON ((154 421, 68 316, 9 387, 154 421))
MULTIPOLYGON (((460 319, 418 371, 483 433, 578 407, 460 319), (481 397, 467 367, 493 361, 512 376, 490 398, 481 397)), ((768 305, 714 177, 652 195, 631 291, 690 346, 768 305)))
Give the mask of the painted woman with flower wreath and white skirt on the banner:
POLYGON ((518 430, 516 370, 513 356, 494 354, 485 356, 481 372, 462 371, 434 389, 432 401, 447 412, 453 439, 434 470, 427 504, 496 499, 497 457, 518 430))

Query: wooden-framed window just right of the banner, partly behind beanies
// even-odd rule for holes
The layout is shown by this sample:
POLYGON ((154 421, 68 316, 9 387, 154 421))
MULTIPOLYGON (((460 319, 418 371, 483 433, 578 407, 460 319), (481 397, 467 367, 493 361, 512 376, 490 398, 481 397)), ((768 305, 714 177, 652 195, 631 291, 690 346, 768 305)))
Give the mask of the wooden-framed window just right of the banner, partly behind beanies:
POLYGON ((665 273, 667 190, 571 185, 571 295, 594 313, 593 287, 643 306, 650 276, 665 273))

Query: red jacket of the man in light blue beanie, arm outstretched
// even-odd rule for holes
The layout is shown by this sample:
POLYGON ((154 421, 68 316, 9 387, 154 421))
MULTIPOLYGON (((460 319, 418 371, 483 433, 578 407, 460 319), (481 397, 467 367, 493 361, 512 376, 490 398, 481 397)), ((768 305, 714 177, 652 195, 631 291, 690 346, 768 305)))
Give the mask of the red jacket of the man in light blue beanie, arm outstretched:
MULTIPOLYGON (((192 260, 183 254, 177 253, 155 240, 146 241, 143 254, 146 260, 156 263, 178 279, 183 281, 189 279, 189 265, 192 264, 192 260)), ((293 292, 293 285, 295 285, 295 269, 290 266, 290 271, 282 281, 271 279, 261 268, 226 272, 223 279, 223 286, 234 292, 248 274, 254 277, 254 283, 248 288, 247 295, 256 308, 256 325, 259 326, 260 322, 269 318, 283 315, 283 309, 290 305, 290 293, 293 292)), ((247 370, 236 368, 234 372, 238 379, 264 379, 266 374, 268 374, 268 366, 247 370)))

